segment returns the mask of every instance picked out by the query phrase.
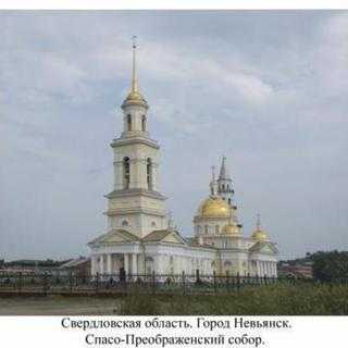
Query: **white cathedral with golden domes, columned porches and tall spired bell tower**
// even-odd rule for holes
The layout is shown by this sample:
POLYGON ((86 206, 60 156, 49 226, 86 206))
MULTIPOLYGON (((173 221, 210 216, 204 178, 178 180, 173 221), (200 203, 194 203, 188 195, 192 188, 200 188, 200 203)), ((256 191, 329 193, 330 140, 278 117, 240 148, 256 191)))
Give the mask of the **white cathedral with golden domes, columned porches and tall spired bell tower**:
POLYGON ((90 243, 91 274, 195 274, 276 276, 277 248, 258 219, 250 237, 237 220, 233 183, 225 158, 210 195, 194 216, 194 236, 185 237, 165 209, 158 187, 160 146, 149 135, 149 105, 139 92, 133 45, 130 92, 122 104, 123 128, 113 139, 114 187, 107 195, 108 229, 90 243))

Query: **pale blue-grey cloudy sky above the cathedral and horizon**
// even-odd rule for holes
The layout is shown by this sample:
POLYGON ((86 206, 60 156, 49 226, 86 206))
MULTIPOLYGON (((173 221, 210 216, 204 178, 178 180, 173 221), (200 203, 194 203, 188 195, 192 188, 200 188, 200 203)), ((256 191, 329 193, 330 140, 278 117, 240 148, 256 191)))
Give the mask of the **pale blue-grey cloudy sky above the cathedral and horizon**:
POLYGON ((138 36, 161 191, 184 236, 227 157, 244 235, 348 249, 348 12, 0 12, 0 259, 87 254, 138 36))

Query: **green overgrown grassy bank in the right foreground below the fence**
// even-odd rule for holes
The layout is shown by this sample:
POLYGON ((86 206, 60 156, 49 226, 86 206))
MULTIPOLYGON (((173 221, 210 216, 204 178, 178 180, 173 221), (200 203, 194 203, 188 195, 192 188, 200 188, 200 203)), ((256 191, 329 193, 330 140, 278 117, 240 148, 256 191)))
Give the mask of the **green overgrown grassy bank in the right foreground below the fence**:
POLYGON ((326 284, 276 284, 226 295, 128 295, 121 314, 348 314, 348 286, 326 284))

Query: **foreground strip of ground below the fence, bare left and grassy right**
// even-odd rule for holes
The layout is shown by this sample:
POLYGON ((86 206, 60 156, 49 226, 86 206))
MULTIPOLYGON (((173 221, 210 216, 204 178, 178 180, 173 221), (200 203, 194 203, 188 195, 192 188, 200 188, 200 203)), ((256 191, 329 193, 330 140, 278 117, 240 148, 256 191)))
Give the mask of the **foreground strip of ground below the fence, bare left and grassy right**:
POLYGON ((313 314, 347 315, 348 286, 313 283, 246 287, 219 295, 146 295, 119 298, 0 298, 0 314, 313 314))

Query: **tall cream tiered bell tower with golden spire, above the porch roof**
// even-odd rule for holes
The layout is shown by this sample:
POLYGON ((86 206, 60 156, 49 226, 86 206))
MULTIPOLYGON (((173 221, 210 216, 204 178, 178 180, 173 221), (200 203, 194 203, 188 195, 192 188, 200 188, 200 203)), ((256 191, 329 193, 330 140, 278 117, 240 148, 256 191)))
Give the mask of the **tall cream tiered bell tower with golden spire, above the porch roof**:
POLYGON ((148 132, 149 105, 137 77, 137 45, 133 37, 132 84, 123 101, 123 132, 113 139, 114 189, 109 200, 108 227, 122 228, 144 237, 167 226, 165 197, 158 191, 160 146, 148 132))

